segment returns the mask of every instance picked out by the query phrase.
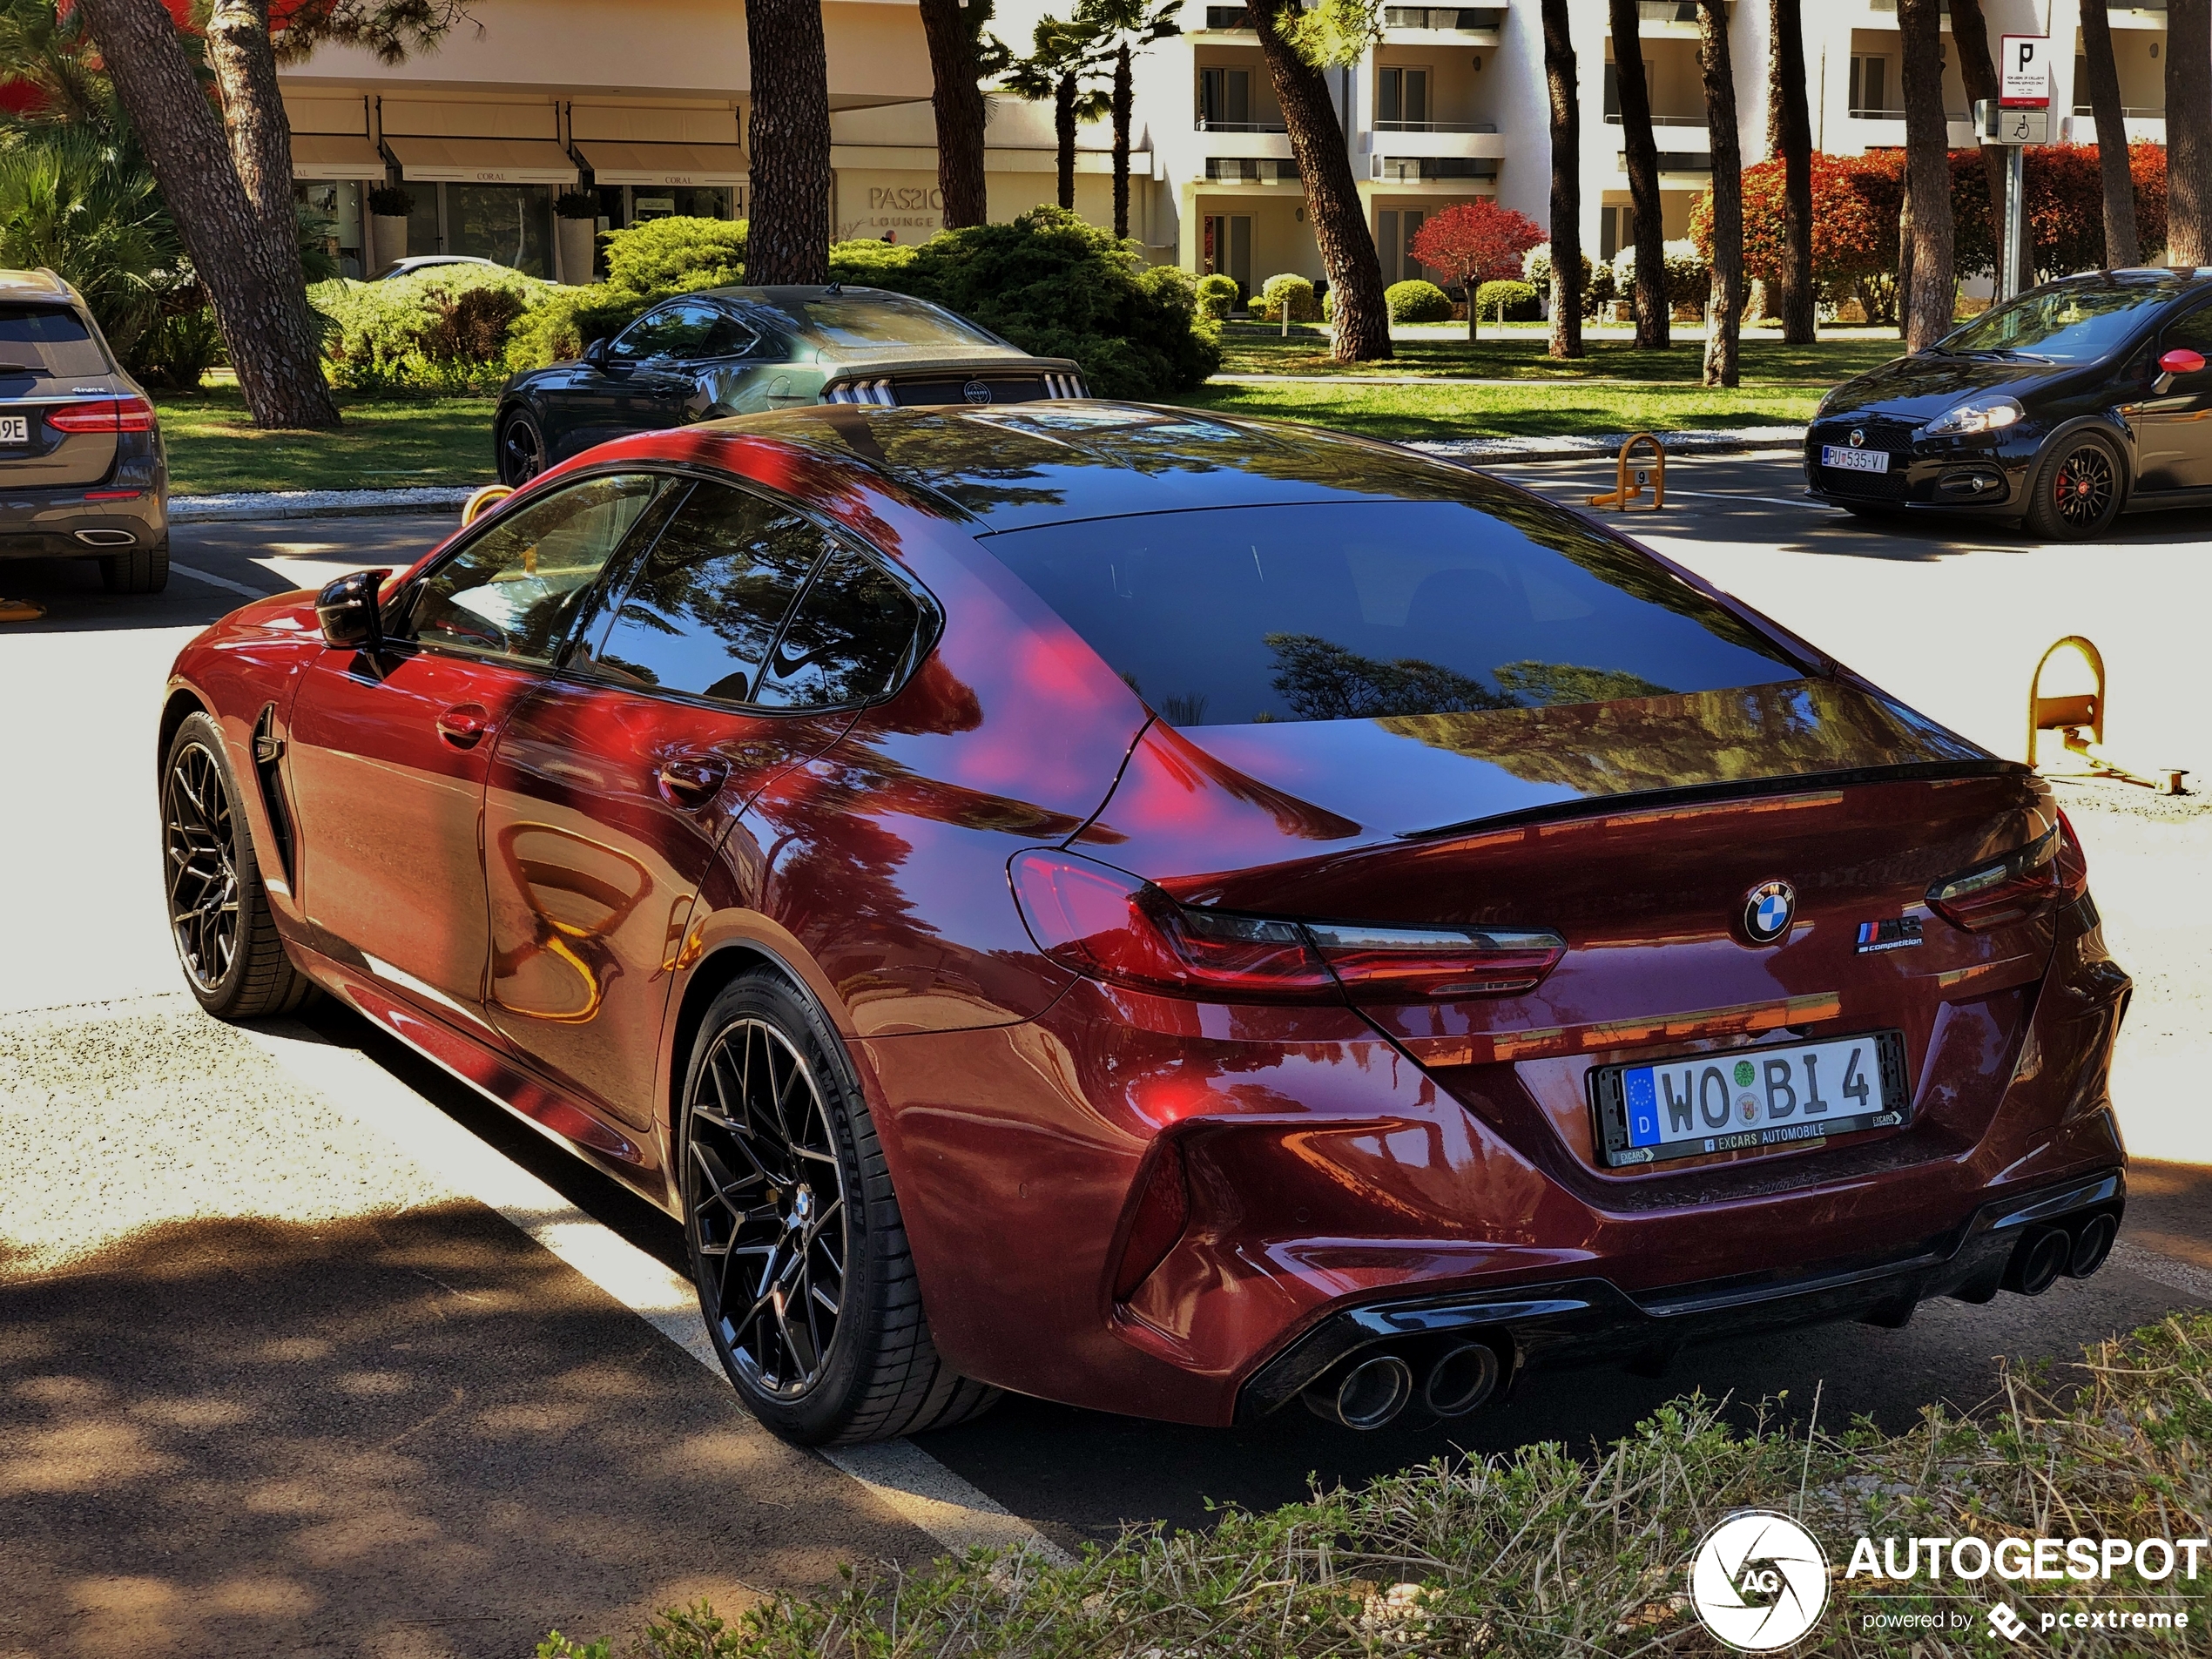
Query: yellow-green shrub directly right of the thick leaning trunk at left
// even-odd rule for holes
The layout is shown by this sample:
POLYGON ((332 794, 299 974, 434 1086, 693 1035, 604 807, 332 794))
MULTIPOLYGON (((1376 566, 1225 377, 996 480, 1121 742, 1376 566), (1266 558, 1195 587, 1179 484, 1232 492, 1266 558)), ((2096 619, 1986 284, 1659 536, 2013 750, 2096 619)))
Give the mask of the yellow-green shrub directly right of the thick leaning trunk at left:
POLYGON ((577 292, 487 265, 431 265, 383 283, 310 290, 330 319, 323 354, 349 392, 491 392, 507 378, 509 334, 551 294, 577 292))

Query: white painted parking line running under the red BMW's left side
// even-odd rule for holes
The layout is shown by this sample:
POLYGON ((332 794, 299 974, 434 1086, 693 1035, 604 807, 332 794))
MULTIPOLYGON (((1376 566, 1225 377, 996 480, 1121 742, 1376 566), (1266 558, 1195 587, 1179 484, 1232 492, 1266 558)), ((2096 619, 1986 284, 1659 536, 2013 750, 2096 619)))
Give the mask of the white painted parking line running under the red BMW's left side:
MULTIPOLYGON (((708 1340, 706 1323, 699 1318, 699 1294, 688 1279, 593 1221, 520 1164, 511 1164, 484 1146, 367 1055, 325 1042, 292 1020, 239 1029, 334 1108, 383 1133, 425 1170, 449 1179, 456 1190, 498 1210, 699 1360, 714 1374, 717 1383, 728 1383, 714 1345, 708 1340)), ((768 1431, 761 1429, 761 1433, 768 1431)), ((1068 1553, 1035 1526, 1009 1513, 911 1440, 891 1440, 880 1447, 836 1447, 823 1458, 956 1555, 987 1544, 991 1548, 1026 1546, 1051 1562, 1068 1559, 1068 1553)))

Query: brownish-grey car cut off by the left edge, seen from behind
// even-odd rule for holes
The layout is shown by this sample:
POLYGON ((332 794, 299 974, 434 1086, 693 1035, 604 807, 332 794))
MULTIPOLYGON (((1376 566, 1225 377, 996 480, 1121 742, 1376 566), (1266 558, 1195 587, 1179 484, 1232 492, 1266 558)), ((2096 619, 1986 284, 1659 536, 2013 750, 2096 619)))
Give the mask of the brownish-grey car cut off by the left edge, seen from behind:
POLYGON ((0 270, 0 557, 97 557, 168 586, 168 460, 146 389, 51 270, 0 270))

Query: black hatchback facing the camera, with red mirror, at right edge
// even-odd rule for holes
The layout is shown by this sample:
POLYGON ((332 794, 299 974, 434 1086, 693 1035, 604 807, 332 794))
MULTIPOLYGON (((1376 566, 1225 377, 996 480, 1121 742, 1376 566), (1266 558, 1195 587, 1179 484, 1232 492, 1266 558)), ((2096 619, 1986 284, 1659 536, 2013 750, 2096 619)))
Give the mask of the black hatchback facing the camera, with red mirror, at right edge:
POLYGON ((2212 270, 2031 288, 1829 392, 1805 482, 1854 513, 1969 509, 2081 540, 2212 502, 2212 270))

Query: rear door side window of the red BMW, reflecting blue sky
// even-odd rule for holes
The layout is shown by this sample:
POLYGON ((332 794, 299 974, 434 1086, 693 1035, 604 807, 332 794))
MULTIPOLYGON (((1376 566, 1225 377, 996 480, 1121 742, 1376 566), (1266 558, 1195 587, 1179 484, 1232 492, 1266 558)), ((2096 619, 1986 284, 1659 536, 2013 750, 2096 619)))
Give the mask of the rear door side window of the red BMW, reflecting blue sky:
POLYGON ((745 701, 823 546, 799 513, 699 484, 653 542, 588 666, 628 686, 745 701))

